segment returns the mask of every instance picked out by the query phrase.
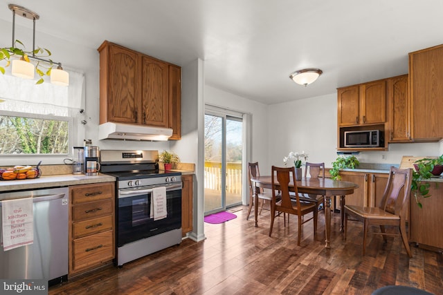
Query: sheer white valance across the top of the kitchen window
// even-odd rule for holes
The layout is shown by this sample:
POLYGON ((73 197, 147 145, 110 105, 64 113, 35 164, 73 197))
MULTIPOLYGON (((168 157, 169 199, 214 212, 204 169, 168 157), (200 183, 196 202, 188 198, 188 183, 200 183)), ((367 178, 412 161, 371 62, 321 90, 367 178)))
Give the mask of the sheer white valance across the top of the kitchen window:
POLYGON ((69 73, 69 86, 58 86, 50 82, 37 85, 36 80, 0 73, 0 98, 33 104, 81 108, 84 73, 66 71, 69 73))

